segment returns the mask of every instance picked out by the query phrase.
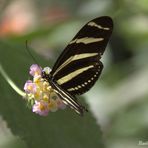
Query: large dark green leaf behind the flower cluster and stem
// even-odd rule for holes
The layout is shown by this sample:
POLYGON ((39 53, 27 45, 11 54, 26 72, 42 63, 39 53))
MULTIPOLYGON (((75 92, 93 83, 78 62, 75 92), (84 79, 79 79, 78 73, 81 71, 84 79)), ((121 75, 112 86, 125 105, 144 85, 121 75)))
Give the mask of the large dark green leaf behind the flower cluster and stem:
MULTIPOLYGON (((49 63, 40 59, 41 66, 49 63)), ((23 89, 28 79, 31 57, 21 45, 0 41, 0 64, 12 81, 23 89)), ((50 65, 49 65, 50 66, 50 65)), ((66 109, 40 117, 32 113, 0 74, 0 114, 14 135, 19 136, 29 148, 104 148, 102 134, 91 112, 80 117, 66 109)))

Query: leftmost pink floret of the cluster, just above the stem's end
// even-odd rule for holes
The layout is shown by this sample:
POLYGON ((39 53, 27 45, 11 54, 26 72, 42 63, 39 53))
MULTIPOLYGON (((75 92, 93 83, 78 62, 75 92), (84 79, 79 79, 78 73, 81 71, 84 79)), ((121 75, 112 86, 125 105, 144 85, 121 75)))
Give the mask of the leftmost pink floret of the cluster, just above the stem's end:
POLYGON ((24 90, 26 93, 35 93, 36 92, 36 84, 33 83, 31 80, 26 81, 24 85, 24 90))

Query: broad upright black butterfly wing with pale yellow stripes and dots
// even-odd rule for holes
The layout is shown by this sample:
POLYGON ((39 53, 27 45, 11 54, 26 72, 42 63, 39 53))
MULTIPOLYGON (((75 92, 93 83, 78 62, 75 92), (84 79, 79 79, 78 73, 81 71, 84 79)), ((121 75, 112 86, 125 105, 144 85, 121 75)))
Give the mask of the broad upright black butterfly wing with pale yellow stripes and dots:
POLYGON ((100 59, 112 30, 108 16, 88 22, 58 58, 51 72, 53 80, 72 95, 88 91, 103 69, 100 59))

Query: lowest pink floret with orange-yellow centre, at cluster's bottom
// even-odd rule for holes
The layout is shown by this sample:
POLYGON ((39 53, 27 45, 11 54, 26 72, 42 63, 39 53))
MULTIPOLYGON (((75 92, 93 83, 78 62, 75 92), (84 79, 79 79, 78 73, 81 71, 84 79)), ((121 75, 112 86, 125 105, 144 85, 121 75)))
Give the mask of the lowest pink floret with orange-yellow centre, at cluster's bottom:
POLYGON ((36 114, 39 114, 40 116, 47 116, 49 112, 48 103, 35 101, 32 111, 36 114))

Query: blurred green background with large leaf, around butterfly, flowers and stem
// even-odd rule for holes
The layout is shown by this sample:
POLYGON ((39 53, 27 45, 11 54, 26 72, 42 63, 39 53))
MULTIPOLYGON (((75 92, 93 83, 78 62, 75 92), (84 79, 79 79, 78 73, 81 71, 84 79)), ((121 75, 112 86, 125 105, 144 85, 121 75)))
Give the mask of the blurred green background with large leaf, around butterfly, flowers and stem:
POLYGON ((39 117, 0 73, 0 148, 148 147, 147 0, 0 0, 0 68, 23 89, 34 63, 51 66, 89 20, 108 15, 114 31, 96 85, 70 109, 39 117))

